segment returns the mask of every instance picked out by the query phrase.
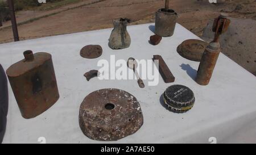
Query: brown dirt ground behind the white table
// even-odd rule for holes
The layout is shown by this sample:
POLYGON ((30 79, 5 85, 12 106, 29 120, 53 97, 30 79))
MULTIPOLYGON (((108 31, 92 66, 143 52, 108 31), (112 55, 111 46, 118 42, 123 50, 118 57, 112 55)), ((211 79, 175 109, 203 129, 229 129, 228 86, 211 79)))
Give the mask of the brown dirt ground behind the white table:
MULTIPOLYGON (((84 0, 49 11, 17 12, 18 23, 23 23, 18 26, 20 40, 109 28, 112 27, 112 19, 120 17, 132 19, 134 22, 131 24, 150 23, 154 22, 155 11, 164 6, 164 1, 161 0, 106 0, 85 5, 91 2, 97 1, 84 0), (134 4, 137 2, 140 3, 134 4), (80 5, 84 6, 78 7, 80 5), (67 10, 72 7, 77 8, 67 10), (26 22, 40 16, 46 17, 26 22)), ((210 4, 208 0, 172 0, 170 2, 170 7, 176 10, 180 16, 178 22, 198 36, 203 34, 203 28, 208 20, 216 18, 220 12, 228 12, 230 16, 235 18, 256 20, 256 1, 254 0, 229 0, 217 5, 210 4)), ((3 23, 3 27, 0 29, 0 43, 13 41, 11 40, 12 37, 10 22, 3 23)))

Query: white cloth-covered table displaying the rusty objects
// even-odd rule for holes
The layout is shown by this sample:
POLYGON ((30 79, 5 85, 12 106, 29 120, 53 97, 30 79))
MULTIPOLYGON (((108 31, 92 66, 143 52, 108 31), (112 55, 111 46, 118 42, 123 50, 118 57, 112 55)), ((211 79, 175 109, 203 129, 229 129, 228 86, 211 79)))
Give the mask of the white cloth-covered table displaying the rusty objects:
MULTIPOLYGON (((129 26, 132 43, 129 48, 113 51, 108 47, 112 29, 72 33, 44 37, 0 45, 0 63, 6 70, 23 58, 23 51, 51 53, 55 68, 60 99, 43 114, 34 119, 24 119, 9 85, 9 114, 3 143, 105 143, 90 140, 79 127, 79 107, 86 95, 103 88, 118 88, 133 94, 141 104, 144 124, 134 135, 106 143, 209 143, 216 137, 217 143, 256 143, 256 78, 224 55, 220 55, 208 86, 198 85, 193 78, 199 62, 190 61, 176 52, 176 47, 186 39, 199 39, 177 24, 174 36, 164 37, 159 45, 153 46, 148 39, 154 24, 129 26), (103 54, 96 59, 79 55, 80 49, 88 44, 99 44, 103 54), (83 74, 98 69, 101 59, 139 60, 162 55, 176 77, 174 83, 158 86, 138 87, 136 81, 104 80, 97 78, 86 81, 83 74), (188 66, 186 70, 181 66, 188 66), (175 114, 164 108, 160 95, 170 85, 180 84, 193 90, 195 106, 185 114, 175 114)), ((147 81, 144 81, 147 83, 147 81)))

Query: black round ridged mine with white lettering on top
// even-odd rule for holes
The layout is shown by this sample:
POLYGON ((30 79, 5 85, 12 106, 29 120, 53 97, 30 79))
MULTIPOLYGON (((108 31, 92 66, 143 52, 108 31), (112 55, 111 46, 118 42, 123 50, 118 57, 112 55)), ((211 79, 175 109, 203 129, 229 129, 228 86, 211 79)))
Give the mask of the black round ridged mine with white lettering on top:
POLYGON ((172 85, 164 91, 164 103, 175 112, 186 112, 193 107, 195 96, 191 89, 183 85, 172 85))

